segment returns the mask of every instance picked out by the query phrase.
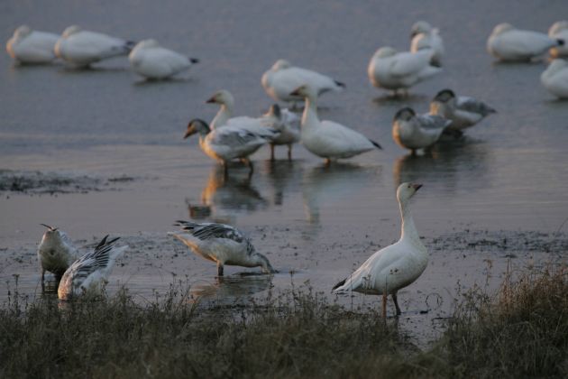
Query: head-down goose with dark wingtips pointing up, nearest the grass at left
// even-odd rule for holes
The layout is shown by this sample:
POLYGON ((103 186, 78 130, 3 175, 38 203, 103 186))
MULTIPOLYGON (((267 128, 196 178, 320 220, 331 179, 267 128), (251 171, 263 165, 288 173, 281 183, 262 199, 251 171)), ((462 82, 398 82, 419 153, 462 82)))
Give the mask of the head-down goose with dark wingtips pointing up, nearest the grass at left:
POLYGON ((116 258, 128 248, 113 245, 119 237, 110 241, 107 241, 107 238, 108 236, 105 236, 94 251, 81 256, 69 266, 57 291, 60 300, 70 300, 86 292, 98 294, 103 290, 108 275, 113 271, 116 258))

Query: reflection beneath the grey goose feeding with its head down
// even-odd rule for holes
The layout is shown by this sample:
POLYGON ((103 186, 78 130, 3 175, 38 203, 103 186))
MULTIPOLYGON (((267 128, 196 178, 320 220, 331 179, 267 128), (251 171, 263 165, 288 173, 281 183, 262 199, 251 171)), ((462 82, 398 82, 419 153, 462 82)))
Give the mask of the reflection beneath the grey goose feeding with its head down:
POLYGON ((233 303, 239 298, 266 291, 271 285, 271 276, 261 273, 235 273, 215 277, 214 282, 197 282, 189 288, 191 299, 233 303))

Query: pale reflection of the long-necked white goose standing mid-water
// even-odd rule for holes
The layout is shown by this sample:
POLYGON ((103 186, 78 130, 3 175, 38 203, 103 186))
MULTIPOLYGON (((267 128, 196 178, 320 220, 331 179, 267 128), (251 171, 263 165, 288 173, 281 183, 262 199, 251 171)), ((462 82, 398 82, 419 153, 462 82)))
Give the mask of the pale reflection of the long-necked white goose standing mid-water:
POLYGON ((361 190, 376 185, 380 180, 380 171, 380 166, 344 162, 322 165, 307 171, 302 180, 307 222, 319 224, 320 208, 357 199, 361 190))

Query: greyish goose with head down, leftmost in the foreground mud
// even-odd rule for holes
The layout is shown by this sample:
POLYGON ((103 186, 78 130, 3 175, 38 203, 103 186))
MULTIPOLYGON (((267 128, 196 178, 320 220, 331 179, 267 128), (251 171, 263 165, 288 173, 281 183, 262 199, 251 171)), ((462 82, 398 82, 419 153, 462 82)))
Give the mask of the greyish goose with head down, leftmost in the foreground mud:
POLYGON ((57 227, 41 224, 48 228, 38 245, 38 261, 41 267, 41 289, 44 290, 45 272, 55 274, 58 281, 77 259, 78 250, 69 236, 57 227))

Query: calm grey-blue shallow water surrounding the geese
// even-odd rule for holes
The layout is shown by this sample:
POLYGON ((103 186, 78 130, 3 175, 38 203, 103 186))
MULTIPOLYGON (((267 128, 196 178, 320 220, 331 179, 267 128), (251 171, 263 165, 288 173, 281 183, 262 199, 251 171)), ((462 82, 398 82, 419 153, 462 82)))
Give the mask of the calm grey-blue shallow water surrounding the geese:
MULTIPOLYGON (((257 249, 283 268, 274 279, 277 288, 289 286, 293 270, 295 281, 309 280, 317 291, 328 291, 368 255, 398 238, 394 191, 407 180, 424 184, 413 207, 427 241, 452 233, 466 238, 465 230, 504 231, 505 236, 564 230, 568 103, 554 100, 540 86, 544 61, 496 64, 485 51, 497 23, 544 32, 564 13, 562 1, 437 1, 419 8, 406 0, 3 2, 0 31, 6 40, 21 23, 52 32, 78 23, 132 40, 156 38, 201 63, 181 79, 147 83, 128 70, 124 59, 78 71, 60 64, 14 67, 0 54, 0 169, 135 178, 117 190, 87 194, 5 192, 0 247, 7 258, 0 280, 20 273, 22 288, 36 293, 34 249, 42 222, 62 227, 83 241, 79 245, 107 233, 124 236, 133 252, 142 251, 142 244, 147 261, 139 258, 133 264, 127 259, 134 259, 131 253, 114 275, 140 296, 166 289, 171 272, 213 286, 204 293, 233 296, 234 291, 218 289, 239 287, 234 284, 238 277, 219 287, 215 267, 163 237, 173 230, 174 220, 194 217, 228 222, 249 233, 257 249), (413 88, 408 98, 387 97, 369 84, 368 60, 387 44, 408 49, 409 28, 418 19, 442 32, 444 73, 413 88), (233 92, 238 115, 260 115, 272 102, 261 88, 261 74, 279 58, 345 82, 344 93, 322 97, 321 116, 350 125, 384 150, 325 168, 301 146, 295 148, 294 162, 268 162, 264 148, 253 156, 251 179, 237 164, 224 179, 196 140, 181 139, 188 120, 215 115, 216 107, 204 102, 219 88, 233 92), (412 157, 390 137, 392 116, 402 106, 425 112, 442 88, 480 97, 499 113, 462 140, 439 143, 432 153, 412 157), (145 237, 156 242, 147 245, 145 237), (175 259, 160 261, 172 251, 179 253, 175 259)), ((277 150, 277 157, 285 156, 285 149, 277 150)), ((446 250, 444 256, 432 254, 426 273, 408 287, 410 304, 424 301, 421 294, 434 287, 453 288, 468 273, 483 281, 485 258, 505 262, 499 250, 469 256, 465 263, 467 249, 450 244, 446 250), (445 264, 448 257, 455 263, 445 264), (462 268, 459 278, 453 274, 457 268, 462 268)), ((265 284, 245 282, 254 291, 265 284)), ((259 292, 263 290, 254 293, 259 292)))

